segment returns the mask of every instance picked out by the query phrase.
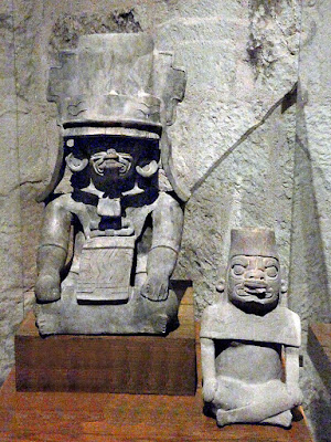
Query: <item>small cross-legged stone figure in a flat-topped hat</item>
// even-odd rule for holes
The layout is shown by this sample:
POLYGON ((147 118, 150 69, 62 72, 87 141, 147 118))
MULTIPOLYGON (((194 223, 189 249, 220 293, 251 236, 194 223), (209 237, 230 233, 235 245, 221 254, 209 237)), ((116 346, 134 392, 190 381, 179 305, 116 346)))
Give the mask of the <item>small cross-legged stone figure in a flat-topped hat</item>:
POLYGON ((291 424, 301 403, 300 319, 279 303, 280 266, 270 230, 233 230, 223 299, 202 317, 203 397, 220 427, 291 424))

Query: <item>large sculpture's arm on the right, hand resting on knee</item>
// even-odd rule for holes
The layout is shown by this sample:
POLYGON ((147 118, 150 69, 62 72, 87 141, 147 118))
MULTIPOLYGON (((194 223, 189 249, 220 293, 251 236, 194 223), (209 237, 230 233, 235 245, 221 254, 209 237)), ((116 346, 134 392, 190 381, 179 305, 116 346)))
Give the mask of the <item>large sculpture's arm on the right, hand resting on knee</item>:
POLYGON ((152 244, 147 260, 147 281, 141 295, 151 301, 168 298, 169 278, 180 250, 184 213, 170 194, 161 193, 152 212, 152 244))

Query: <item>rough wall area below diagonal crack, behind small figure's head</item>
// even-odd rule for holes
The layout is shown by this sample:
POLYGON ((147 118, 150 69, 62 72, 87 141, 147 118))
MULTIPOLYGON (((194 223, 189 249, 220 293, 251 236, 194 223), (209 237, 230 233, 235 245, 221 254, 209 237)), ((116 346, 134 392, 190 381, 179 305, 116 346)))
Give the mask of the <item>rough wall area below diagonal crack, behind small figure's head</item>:
POLYGON ((281 103, 214 168, 186 206, 178 271, 188 269, 194 281, 199 314, 225 276, 232 228, 275 229, 288 278, 296 119, 293 107, 281 113, 281 103))

